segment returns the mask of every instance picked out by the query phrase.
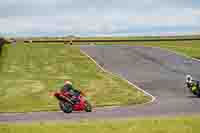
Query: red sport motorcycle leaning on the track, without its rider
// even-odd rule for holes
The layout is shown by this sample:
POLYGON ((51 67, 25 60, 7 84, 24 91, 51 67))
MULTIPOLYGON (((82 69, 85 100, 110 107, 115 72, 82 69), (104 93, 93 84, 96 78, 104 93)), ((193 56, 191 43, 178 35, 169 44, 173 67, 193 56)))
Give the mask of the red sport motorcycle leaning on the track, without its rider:
POLYGON ((76 97, 78 102, 74 102, 72 100, 73 96, 68 92, 54 92, 53 95, 59 100, 60 109, 65 113, 71 113, 72 111, 92 111, 91 104, 82 92, 76 97))

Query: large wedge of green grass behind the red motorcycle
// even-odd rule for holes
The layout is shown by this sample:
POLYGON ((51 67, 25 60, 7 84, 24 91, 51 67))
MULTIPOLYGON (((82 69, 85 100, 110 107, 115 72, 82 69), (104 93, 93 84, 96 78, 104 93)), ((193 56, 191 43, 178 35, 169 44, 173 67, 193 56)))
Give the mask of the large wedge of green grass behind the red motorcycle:
POLYGON ((140 104, 150 100, 116 76, 102 72, 78 47, 62 44, 6 45, 0 57, 0 112, 58 110, 48 95, 65 79, 94 106, 140 104))

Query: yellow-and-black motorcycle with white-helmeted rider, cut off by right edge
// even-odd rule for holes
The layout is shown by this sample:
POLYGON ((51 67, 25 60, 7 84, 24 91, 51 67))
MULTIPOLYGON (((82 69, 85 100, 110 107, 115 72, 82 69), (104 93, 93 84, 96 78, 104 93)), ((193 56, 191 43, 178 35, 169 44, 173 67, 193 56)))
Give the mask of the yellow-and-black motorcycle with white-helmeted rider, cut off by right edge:
POLYGON ((190 92, 197 96, 200 97, 200 86, 199 86, 199 81, 198 80, 193 80, 191 75, 186 76, 186 85, 187 88, 190 90, 190 92))

